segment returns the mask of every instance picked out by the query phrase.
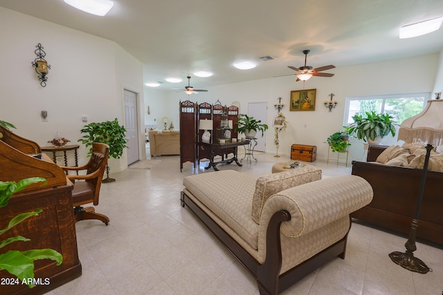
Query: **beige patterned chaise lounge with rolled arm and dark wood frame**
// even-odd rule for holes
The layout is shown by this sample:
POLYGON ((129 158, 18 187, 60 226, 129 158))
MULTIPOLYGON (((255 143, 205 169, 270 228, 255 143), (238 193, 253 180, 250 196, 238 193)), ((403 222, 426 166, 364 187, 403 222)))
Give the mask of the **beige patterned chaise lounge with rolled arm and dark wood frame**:
POLYGON ((258 179, 230 170, 190 175, 181 204, 248 269, 260 294, 278 294, 345 258, 349 214, 372 200, 363 178, 320 178, 315 166, 258 179))

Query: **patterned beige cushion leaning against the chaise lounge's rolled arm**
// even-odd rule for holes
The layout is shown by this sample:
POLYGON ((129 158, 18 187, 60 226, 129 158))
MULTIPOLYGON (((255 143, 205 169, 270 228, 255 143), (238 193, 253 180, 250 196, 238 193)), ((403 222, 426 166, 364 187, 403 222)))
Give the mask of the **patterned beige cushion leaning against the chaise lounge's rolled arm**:
POLYGON ((321 170, 313 165, 305 165, 297 169, 289 169, 280 173, 271 173, 260 176, 255 184, 255 193, 252 202, 252 219, 260 222, 263 205, 275 193, 296 187, 300 184, 321 179, 321 170))

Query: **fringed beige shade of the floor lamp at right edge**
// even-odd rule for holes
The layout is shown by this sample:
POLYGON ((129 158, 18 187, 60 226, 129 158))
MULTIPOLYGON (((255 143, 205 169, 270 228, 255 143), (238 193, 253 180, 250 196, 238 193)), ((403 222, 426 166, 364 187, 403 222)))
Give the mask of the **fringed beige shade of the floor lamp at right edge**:
POLYGON ((443 100, 428 100, 422 113, 401 123, 398 140, 443 144, 443 100))

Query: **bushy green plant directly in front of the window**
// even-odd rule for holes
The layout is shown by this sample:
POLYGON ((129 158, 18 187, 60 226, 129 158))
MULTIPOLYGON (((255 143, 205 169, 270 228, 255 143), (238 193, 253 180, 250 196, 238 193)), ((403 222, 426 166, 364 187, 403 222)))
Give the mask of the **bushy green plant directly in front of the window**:
POLYGON ((379 114, 372 112, 365 112, 363 115, 354 115, 352 119, 354 123, 348 126, 350 134, 356 134, 359 140, 364 142, 374 143, 376 137, 383 138, 389 133, 395 136, 395 126, 398 125, 393 117, 389 114, 379 114))

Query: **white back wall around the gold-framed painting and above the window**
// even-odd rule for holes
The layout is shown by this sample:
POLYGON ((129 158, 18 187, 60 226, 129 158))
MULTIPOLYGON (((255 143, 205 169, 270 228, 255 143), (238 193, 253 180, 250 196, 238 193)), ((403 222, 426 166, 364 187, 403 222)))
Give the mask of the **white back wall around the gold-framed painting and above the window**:
MULTIPOLYGON (((220 100, 221 104, 230 105, 234 101, 240 102, 240 111, 246 112, 249 102, 269 102, 267 124, 272 125, 277 111, 273 104, 282 97, 284 115, 289 121, 287 131, 280 134, 281 155, 289 155, 291 144, 316 145, 317 158, 327 159, 328 146, 324 142, 327 137, 343 126, 345 97, 359 95, 381 95, 397 93, 431 92, 437 72, 438 54, 424 55, 408 59, 395 59, 373 64, 361 64, 329 70, 334 77, 313 77, 305 82, 305 89, 316 88, 315 111, 289 111, 289 96, 291 91, 303 89, 302 82, 296 82, 296 77, 285 76, 269 79, 260 79, 251 82, 227 84, 208 87, 208 93, 191 95, 192 102, 208 102, 213 104, 220 100), (417 75, 417 70, 419 75, 417 75), (338 105, 329 112, 323 102, 329 100, 329 93, 334 93, 334 100, 338 105)), ((443 68, 443 66, 442 66, 443 68)), ((443 75, 443 74, 442 74, 443 75)), ((186 100, 183 93, 170 93, 174 102, 186 100)), ((177 107, 178 115, 178 107, 177 107)), ((275 153, 273 145, 273 130, 266 131, 266 152, 275 153)), ((387 139, 382 144, 395 143, 394 139, 387 139)), ((363 142, 352 139, 350 161, 362 160, 363 142)))

